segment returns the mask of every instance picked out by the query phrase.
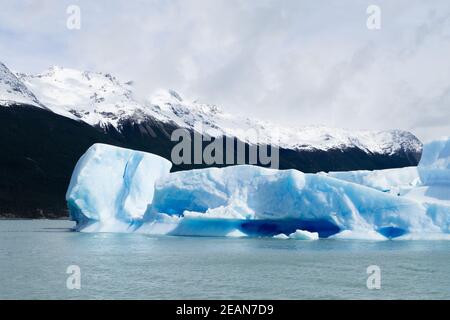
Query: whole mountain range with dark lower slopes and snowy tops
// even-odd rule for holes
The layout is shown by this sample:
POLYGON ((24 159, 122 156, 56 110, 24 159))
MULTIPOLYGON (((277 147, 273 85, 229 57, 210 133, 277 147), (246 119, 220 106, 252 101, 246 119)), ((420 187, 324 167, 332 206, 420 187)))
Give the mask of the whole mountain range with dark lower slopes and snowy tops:
MULTIPOLYGON (((310 173, 415 166, 421 156, 420 141, 405 131, 282 127, 175 91, 138 99, 135 90, 110 74, 60 67, 14 74, 0 64, 0 214, 66 216, 70 176, 90 146, 104 143, 170 160, 178 143, 171 134, 178 128, 226 135, 246 142, 247 149, 261 142, 278 146, 280 169, 310 173)), ((208 166, 182 163, 172 170, 208 166)))

